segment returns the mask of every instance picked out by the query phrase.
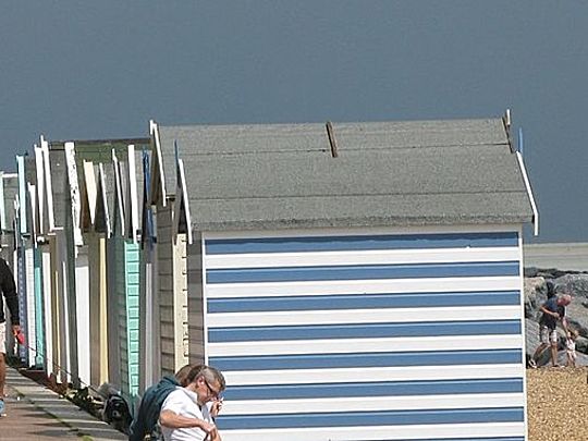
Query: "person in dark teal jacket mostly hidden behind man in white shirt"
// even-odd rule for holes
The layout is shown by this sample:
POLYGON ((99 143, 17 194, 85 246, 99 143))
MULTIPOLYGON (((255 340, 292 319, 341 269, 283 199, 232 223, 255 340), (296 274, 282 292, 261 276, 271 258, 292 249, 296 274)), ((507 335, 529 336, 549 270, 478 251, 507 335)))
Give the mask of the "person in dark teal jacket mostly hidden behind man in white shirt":
POLYGON ((203 365, 186 365, 175 372, 174 377, 166 376, 159 383, 148 388, 131 424, 128 440, 143 441, 147 436, 150 440, 160 439, 158 420, 161 405, 176 388, 189 384, 203 367, 203 365))

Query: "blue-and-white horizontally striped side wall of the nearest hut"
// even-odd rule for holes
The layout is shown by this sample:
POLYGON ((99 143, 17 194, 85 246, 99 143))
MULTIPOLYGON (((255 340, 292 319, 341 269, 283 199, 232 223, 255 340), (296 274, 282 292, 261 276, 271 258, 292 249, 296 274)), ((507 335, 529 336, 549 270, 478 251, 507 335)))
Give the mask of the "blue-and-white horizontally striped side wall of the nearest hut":
POLYGON ((523 441, 518 232, 204 235, 225 441, 523 441))

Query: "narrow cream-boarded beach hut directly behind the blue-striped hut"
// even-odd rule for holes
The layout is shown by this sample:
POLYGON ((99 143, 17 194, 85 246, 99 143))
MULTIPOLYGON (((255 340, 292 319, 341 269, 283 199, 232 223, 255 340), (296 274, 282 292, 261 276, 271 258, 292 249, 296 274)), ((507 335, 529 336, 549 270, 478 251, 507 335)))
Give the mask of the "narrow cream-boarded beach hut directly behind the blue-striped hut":
MULTIPOLYGON (((170 142, 154 121, 150 122, 150 137, 149 195, 157 237, 150 250, 154 256, 151 286, 155 292, 151 299, 156 303, 150 308, 159 313, 151 331, 157 339, 154 344, 160 352, 157 368, 161 372, 151 371, 154 377, 148 382, 162 373, 173 373, 188 360, 186 234, 173 232, 179 188, 175 147, 173 139, 170 142)), ((145 344, 151 343, 146 341, 145 344)), ((152 352, 152 348, 149 351, 152 352)))

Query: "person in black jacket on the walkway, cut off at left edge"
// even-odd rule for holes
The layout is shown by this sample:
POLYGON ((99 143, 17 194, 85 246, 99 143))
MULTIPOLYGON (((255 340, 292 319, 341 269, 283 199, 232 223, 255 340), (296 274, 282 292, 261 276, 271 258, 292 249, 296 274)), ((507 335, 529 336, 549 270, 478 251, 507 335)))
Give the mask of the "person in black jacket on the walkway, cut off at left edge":
MULTIPOLYGON (((14 336, 21 333, 19 322, 19 294, 14 277, 7 261, 0 258, 0 289, 7 306, 10 311, 10 322, 12 323, 12 333, 14 336)), ((4 404, 4 383, 7 382, 7 320, 4 317, 4 305, 0 296, 0 417, 7 415, 4 404)))

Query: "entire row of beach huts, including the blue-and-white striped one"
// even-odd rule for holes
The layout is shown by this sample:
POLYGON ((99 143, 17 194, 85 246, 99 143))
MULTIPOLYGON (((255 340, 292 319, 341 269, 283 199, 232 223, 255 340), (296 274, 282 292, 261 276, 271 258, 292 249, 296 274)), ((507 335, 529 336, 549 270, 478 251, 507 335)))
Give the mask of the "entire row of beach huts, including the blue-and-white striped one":
POLYGON ((213 365, 225 441, 526 439, 509 113, 40 136, 0 196, 47 376, 133 404, 213 365))

